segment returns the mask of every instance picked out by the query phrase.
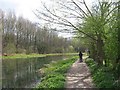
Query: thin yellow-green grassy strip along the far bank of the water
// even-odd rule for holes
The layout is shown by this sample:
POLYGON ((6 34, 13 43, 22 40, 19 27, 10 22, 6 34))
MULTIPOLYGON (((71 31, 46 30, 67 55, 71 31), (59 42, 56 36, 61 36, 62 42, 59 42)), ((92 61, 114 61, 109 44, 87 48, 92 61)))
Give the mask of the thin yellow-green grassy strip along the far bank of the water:
POLYGON ((55 55, 75 55, 77 53, 54 53, 54 54, 13 54, 8 56, 0 56, 3 59, 16 59, 16 58, 31 58, 31 57, 46 57, 55 55))

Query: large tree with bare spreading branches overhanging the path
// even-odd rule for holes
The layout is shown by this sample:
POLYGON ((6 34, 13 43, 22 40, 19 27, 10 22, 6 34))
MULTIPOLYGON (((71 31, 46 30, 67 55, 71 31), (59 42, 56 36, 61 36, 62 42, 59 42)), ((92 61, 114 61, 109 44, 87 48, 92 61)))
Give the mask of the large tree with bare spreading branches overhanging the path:
POLYGON ((96 61, 101 65, 103 61, 105 61, 106 65, 105 52, 103 49, 106 40, 105 27, 109 24, 109 21, 114 19, 111 15, 117 7, 112 7, 112 2, 99 1, 92 10, 90 10, 84 0, 60 0, 57 1, 57 3, 57 6, 60 8, 53 10, 48 9, 47 6, 43 4, 45 12, 37 10, 35 13, 36 16, 50 23, 64 25, 67 28, 70 27, 73 30, 72 32, 77 30, 78 33, 89 37, 92 42, 92 47, 95 48, 93 52, 97 54, 95 57, 96 61), (82 9, 82 7, 84 7, 84 9, 82 9), (76 22, 74 23, 73 20, 76 20, 76 22))

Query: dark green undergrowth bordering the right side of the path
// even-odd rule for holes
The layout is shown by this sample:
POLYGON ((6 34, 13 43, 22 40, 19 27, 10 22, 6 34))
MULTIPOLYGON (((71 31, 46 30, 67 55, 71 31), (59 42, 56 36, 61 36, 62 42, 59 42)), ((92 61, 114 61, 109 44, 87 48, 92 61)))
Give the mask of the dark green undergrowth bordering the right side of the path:
POLYGON ((110 67, 98 67, 98 65, 90 58, 86 60, 86 63, 91 70, 93 82, 97 88, 120 89, 120 82, 115 80, 113 71, 110 67))

